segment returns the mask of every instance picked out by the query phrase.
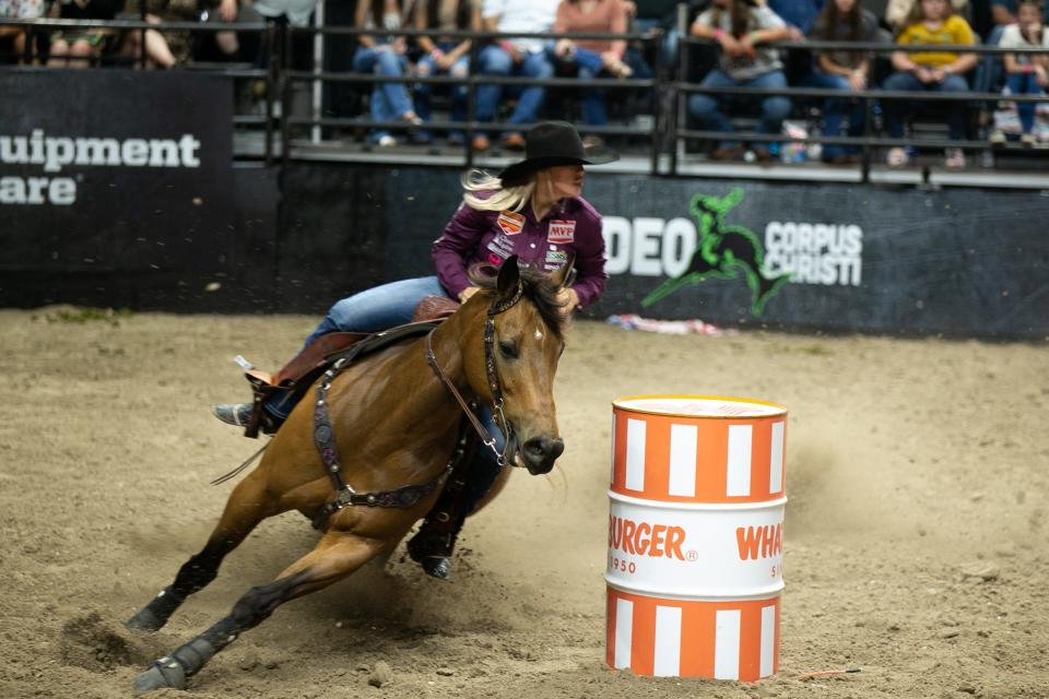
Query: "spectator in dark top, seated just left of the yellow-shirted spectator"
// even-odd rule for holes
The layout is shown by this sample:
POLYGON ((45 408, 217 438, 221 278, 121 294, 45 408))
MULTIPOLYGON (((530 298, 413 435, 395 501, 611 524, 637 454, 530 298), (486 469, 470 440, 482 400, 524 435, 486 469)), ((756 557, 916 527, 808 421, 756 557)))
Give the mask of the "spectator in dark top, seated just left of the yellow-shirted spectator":
MULTIPOLYGON (((860 0, 828 0, 813 24, 810 38, 820 42, 879 40, 877 19, 860 5, 860 0)), ((860 92, 867 90, 871 74, 869 51, 832 49, 816 55, 815 66, 806 82, 812 87, 860 92)), ((841 135, 841 121, 849 115, 850 137, 863 134, 867 100, 833 97, 823 106, 823 134, 841 135)), ((823 159, 834 165, 859 162, 854 145, 828 143, 823 146, 823 159)))

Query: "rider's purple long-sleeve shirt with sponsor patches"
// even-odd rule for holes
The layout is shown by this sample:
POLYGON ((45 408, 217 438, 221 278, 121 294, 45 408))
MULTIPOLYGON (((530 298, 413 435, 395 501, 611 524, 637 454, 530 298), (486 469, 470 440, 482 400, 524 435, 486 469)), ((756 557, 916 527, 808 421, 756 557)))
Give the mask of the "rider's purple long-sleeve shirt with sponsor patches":
MULTIPOLYGON (((485 198, 481 193, 481 198, 485 198)), ((565 199, 542 220, 531 206, 520 213, 478 211, 461 204, 434 241, 432 257, 441 286, 459 296, 470 286, 467 270, 476 262, 496 268, 511 254, 546 272, 561 269, 575 256, 573 288, 579 306, 598 300, 604 291, 604 238, 601 214, 581 197, 565 199)))

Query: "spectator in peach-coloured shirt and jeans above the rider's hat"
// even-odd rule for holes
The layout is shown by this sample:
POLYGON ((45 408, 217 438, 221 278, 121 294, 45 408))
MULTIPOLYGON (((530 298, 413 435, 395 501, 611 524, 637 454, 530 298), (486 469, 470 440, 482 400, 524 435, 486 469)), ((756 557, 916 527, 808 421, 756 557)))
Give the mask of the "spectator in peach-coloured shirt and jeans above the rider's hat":
MULTIPOLYGON (((562 0, 554 20, 554 34, 624 34, 626 22, 626 5, 623 0, 562 0)), ((563 38, 554 44, 555 60, 574 70, 584 80, 592 80, 604 73, 629 78, 634 71, 623 62, 625 51, 625 39, 563 38)), ((609 122, 603 90, 582 88, 582 122, 592 127, 603 127, 609 122)), ((582 142, 588 146, 602 145, 601 139, 594 135, 586 137, 582 142)))

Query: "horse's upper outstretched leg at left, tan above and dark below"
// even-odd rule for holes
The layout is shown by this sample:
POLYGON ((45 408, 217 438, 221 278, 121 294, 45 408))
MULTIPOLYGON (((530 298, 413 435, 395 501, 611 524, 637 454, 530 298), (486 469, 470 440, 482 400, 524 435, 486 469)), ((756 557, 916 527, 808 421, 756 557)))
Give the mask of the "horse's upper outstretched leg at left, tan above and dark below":
POLYGON ((138 631, 155 631, 167 624, 186 597, 203 590, 215 579, 226 554, 239 546, 259 522, 276 513, 275 502, 267 494, 264 479, 257 471, 237 484, 208 544, 182 564, 175 582, 125 621, 125 626, 138 631))

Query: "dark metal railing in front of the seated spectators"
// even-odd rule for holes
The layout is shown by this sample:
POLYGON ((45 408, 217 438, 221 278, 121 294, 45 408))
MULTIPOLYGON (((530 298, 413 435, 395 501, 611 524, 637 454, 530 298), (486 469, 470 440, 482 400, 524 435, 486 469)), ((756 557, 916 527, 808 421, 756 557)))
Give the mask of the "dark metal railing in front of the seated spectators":
MULTIPOLYGON (((144 16, 144 14, 143 14, 144 16)), ((470 32, 470 31, 421 31, 421 29, 400 29, 393 34, 406 38, 421 36, 443 37, 448 39, 473 39, 470 48, 470 74, 467 78, 453 78, 445 75, 411 75, 386 76, 375 74, 361 74, 353 72, 339 72, 325 70, 323 68, 323 42, 329 37, 356 37, 360 35, 384 34, 388 32, 377 32, 375 29, 362 29, 357 27, 343 26, 316 26, 316 27, 291 27, 287 25, 264 22, 256 24, 246 23, 197 23, 197 22, 162 22, 160 24, 151 23, 140 19, 137 21, 71 21, 71 20, 0 20, 0 25, 23 26, 27 33, 26 50, 23 60, 30 62, 33 58, 32 38, 36 34, 51 33, 62 27, 78 28, 99 28, 117 33, 142 32, 156 29, 162 33, 181 32, 187 34, 214 34, 219 32, 254 33, 260 34, 262 40, 262 54, 266 57, 264 66, 261 68, 236 68, 217 69, 215 72, 225 74, 234 79, 250 79, 264 81, 264 115, 248 116, 236 115, 234 126, 240 128, 259 128, 264 133, 264 147, 262 158, 267 163, 275 159, 287 159, 296 156, 296 132, 299 129, 309 129, 311 138, 309 142, 323 144, 321 133, 323 129, 387 129, 406 132, 412 127, 404 122, 376 121, 360 116, 335 117, 327 116, 321 108, 321 100, 313 100, 309 114, 295 114, 291 109, 292 94, 296 85, 308 83, 314 87, 315 95, 322 92, 326 86, 337 83, 356 83, 360 85, 370 85, 375 83, 404 83, 404 84, 433 84, 445 86, 465 86, 468 90, 467 99, 467 119, 464 121, 452 121, 450 119, 435 119, 428 121, 425 126, 434 131, 460 130, 464 132, 463 145, 461 147, 462 161, 467 167, 472 167, 478 152, 472 144, 472 135, 479 132, 500 131, 520 129, 527 125, 507 123, 505 121, 481 122, 476 118, 476 91, 480 85, 502 84, 509 87, 520 87, 528 85, 540 85, 544 87, 569 88, 581 91, 588 87, 603 88, 606 91, 648 91, 650 93, 651 108, 644 116, 648 118, 645 126, 630 126, 627 123, 616 123, 610 126, 586 126, 579 125, 580 132, 585 134, 596 134, 604 137, 639 137, 648 143, 647 152, 644 157, 648 162, 648 170, 653 175, 676 175, 680 170, 682 158, 689 157, 685 152, 683 144, 687 140, 715 141, 726 138, 724 133, 717 131, 707 131, 688 128, 685 102, 691 94, 718 94, 734 95, 740 97, 761 98, 770 95, 783 95, 791 98, 803 98, 808 100, 822 102, 829 98, 850 98, 861 100, 865 105, 868 119, 864 123, 864 131, 861 137, 830 137, 830 135, 805 135, 805 137, 786 137, 782 134, 761 134, 747 131, 735 131, 731 134, 731 140, 744 143, 769 143, 769 142, 798 142, 805 146, 809 144, 837 144, 856 146, 861 150, 860 173, 861 179, 867 181, 870 177, 871 168, 874 163, 874 153, 876 149, 892 146, 909 146, 917 149, 935 147, 959 147, 964 150, 989 149, 989 143, 983 139, 951 140, 943 138, 905 138, 893 139, 877 134, 874 131, 874 119, 872 116, 873 105, 889 99, 907 99, 923 102, 929 104, 946 104, 952 102, 965 102, 969 105, 981 104, 993 107, 1002 100, 1013 103, 1044 103, 1049 102, 1045 95, 1010 95, 1004 96, 994 92, 964 92, 964 93, 942 93, 942 92, 907 92, 907 91, 885 91, 876 86, 862 91, 845 93, 837 90, 797 87, 788 86, 785 88, 757 88, 757 87, 705 87, 697 82, 691 82, 686 79, 688 70, 693 64, 693 56, 697 48, 716 48, 716 43, 709 39, 699 39, 682 32, 679 40, 677 56, 673 66, 667 64, 662 59, 662 51, 659 50, 659 43, 662 42, 662 34, 659 32, 648 33, 626 33, 626 34, 603 34, 603 33, 571 33, 571 34, 545 34, 545 33, 518 33, 505 34, 497 32, 470 32), (311 36, 320 46, 320 50, 314 52, 314 64, 311 70, 296 70, 290 66, 288 57, 292 54, 293 40, 296 36, 311 36), (552 42, 557 38, 570 39, 625 39, 628 42, 649 45, 656 50, 648 55, 653 59, 653 76, 651 79, 618 79, 618 78, 520 78, 520 76, 500 76, 491 74, 480 74, 476 70, 479 64, 480 51, 487 40, 524 38, 542 39, 552 42), (278 138, 279 137, 279 138, 278 138)), ((140 66, 145 66, 145 42, 139 42, 139 56, 134 60, 140 66)), ((871 56, 886 56, 896 51, 922 52, 934 49, 936 51, 951 51, 959 54, 976 54, 980 57, 986 55, 1024 54, 1024 55, 1045 55, 1049 49, 1017 49, 1002 48, 998 46, 964 45, 964 46, 943 46, 934 47, 919 45, 896 45, 883 43, 853 43, 853 42, 798 42, 781 43, 775 46, 778 50, 790 51, 825 51, 825 50, 849 50, 864 52, 871 56)), ((818 105, 813 105, 818 111, 818 105)), ((1049 150, 1045 151, 1049 158, 1049 150)), ((344 154, 352 157, 352 154, 344 154)), ((704 162, 703 156, 695 156, 697 162, 704 162)), ((419 157, 421 164, 427 162, 427 155, 421 154, 419 157)))

